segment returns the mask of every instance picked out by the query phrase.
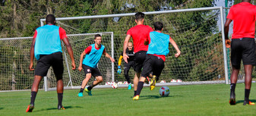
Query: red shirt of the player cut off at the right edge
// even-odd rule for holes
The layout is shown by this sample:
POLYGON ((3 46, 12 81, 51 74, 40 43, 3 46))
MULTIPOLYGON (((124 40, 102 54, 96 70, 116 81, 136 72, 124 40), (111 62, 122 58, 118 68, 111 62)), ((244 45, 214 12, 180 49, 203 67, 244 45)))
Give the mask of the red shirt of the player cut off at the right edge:
POLYGON ((234 21, 232 39, 254 38, 256 6, 249 2, 232 5, 226 18, 234 21))

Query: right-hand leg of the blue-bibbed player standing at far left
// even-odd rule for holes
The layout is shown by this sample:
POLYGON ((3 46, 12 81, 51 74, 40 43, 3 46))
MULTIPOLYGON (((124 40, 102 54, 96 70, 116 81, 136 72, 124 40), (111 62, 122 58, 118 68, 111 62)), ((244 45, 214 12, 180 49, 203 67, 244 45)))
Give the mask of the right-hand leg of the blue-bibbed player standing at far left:
POLYGON ((64 88, 63 80, 62 80, 63 72, 64 72, 62 52, 55 52, 51 56, 52 56, 52 69, 57 81, 58 110, 62 110, 62 109, 65 109, 62 106, 63 88, 64 88))

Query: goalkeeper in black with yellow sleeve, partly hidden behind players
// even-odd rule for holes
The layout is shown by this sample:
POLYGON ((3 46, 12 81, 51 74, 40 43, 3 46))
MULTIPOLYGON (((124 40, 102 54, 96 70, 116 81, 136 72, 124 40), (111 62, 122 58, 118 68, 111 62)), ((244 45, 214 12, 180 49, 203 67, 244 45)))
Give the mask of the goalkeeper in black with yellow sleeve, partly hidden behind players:
MULTIPOLYGON (((132 45, 132 42, 128 42, 128 48, 126 49, 126 55, 128 55, 129 58, 127 59, 128 63, 125 62, 124 73, 125 73, 125 79, 129 83, 128 89, 131 89, 131 81, 130 81, 130 77, 129 77, 129 71, 130 71, 131 67, 134 68, 134 46, 132 45)), ((117 71, 118 74, 121 74, 121 72, 122 72, 121 63, 122 63, 122 55, 120 55, 120 57, 119 57, 119 67, 118 67, 119 69, 117 71)))

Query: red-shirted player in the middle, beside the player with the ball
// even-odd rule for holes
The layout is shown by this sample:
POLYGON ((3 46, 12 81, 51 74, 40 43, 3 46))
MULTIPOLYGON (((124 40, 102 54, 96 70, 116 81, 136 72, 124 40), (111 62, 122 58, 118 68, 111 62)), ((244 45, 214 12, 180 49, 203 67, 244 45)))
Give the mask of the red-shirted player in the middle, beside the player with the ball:
POLYGON ((131 27, 131 29, 128 30, 127 36, 125 37, 124 42, 124 49, 123 49, 123 58, 126 63, 128 63, 127 58, 128 55, 126 55, 126 49, 128 46, 129 39, 131 39, 134 42, 134 96, 137 91, 137 83, 139 81, 138 77, 141 77, 141 68, 144 63, 144 60, 146 59, 146 53, 148 49, 148 45, 144 45, 144 40, 146 40, 149 37, 149 33, 153 31, 153 29, 150 26, 144 25, 144 13, 137 12, 135 14, 135 22, 136 26, 131 27))

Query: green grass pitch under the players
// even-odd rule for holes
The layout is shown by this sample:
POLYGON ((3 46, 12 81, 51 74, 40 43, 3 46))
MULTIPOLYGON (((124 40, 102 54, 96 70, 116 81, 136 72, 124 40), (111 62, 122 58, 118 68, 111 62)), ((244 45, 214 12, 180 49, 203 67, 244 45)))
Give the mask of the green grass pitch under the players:
MULTIPOLYGON (((93 96, 77 97, 78 89, 65 90, 65 110, 57 110, 57 93, 40 90, 36 96, 35 108, 26 113, 30 103, 30 91, 0 92, 0 115, 255 115, 256 105, 242 105, 244 84, 235 89, 237 105, 229 105, 229 85, 169 86, 170 95, 160 97, 156 86, 153 91, 144 87, 138 101, 133 101, 133 90, 93 89, 93 96)), ((252 83, 251 101, 256 102, 252 83)))

